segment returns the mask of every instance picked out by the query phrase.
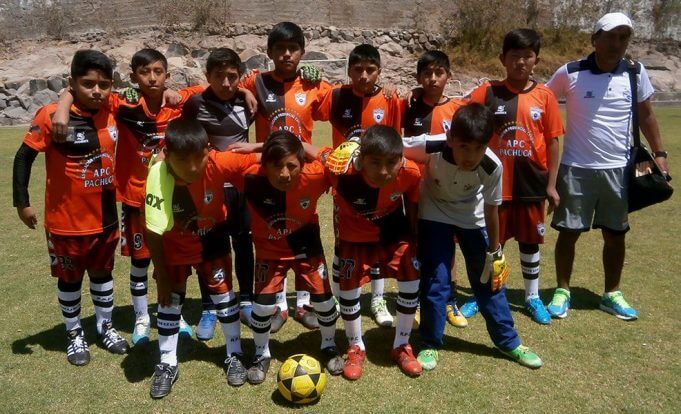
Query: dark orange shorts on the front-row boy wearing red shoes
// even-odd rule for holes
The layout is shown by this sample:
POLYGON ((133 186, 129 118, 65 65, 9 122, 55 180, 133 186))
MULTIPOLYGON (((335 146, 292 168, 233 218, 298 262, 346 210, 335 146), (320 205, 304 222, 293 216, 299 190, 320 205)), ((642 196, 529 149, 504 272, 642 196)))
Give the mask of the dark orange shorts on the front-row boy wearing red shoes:
POLYGON ((409 242, 387 246, 338 242, 333 259, 333 280, 340 284, 341 290, 362 287, 376 278, 392 278, 401 282, 419 279, 419 262, 409 242))

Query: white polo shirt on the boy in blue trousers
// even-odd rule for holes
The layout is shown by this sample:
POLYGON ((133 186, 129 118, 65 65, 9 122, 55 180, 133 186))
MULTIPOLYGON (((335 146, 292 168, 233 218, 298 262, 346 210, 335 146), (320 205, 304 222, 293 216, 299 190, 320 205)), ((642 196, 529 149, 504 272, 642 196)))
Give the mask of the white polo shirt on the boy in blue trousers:
POLYGON ((501 161, 486 148, 480 164, 464 171, 454 162, 446 135, 405 137, 404 155, 426 164, 419 218, 464 229, 485 227, 484 204, 501 204, 501 161))

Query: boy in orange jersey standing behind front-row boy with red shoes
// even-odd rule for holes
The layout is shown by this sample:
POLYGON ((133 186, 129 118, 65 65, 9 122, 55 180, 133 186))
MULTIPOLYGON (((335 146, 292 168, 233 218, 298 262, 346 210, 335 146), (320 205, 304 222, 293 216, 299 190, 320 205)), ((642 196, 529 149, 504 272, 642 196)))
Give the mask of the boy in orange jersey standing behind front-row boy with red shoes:
MULTIPOLYGON (((320 119, 331 123, 334 148, 353 137, 360 137, 371 125, 386 125, 400 131, 400 100, 395 93, 385 96, 383 88, 377 85, 380 74, 381 55, 374 46, 361 44, 350 52, 348 76, 351 84, 328 91, 319 107, 320 119)), ((379 326, 390 327, 393 317, 383 298, 385 282, 377 272, 373 275, 371 313, 379 326)), ((334 285, 337 288, 337 280, 334 285)))

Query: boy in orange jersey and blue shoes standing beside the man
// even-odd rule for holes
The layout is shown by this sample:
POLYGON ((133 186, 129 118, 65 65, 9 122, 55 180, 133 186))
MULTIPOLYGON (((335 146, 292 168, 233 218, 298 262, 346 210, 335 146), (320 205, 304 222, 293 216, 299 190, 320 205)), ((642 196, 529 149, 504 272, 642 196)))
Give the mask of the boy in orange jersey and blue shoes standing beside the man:
MULTIPOLYGON (((470 100, 494 111, 495 133, 489 147, 504 167, 501 243, 511 238, 518 241, 525 308, 535 322, 548 325, 551 316, 539 297, 539 245, 544 243, 544 199, 548 199, 549 209, 560 201, 556 176, 563 124, 553 92, 531 78, 539 63, 540 46, 539 34, 532 29, 506 34, 499 56, 506 79, 480 85, 470 100)), ((475 301, 461 308, 466 316, 476 311, 475 301)))

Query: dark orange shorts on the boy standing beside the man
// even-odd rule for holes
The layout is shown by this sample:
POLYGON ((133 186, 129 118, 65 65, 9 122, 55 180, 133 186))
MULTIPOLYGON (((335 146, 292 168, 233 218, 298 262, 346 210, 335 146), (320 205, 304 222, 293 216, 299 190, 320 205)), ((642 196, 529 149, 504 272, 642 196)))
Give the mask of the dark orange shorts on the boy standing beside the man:
POLYGON ((499 238, 519 243, 543 244, 544 203, 503 202, 499 206, 499 238))

